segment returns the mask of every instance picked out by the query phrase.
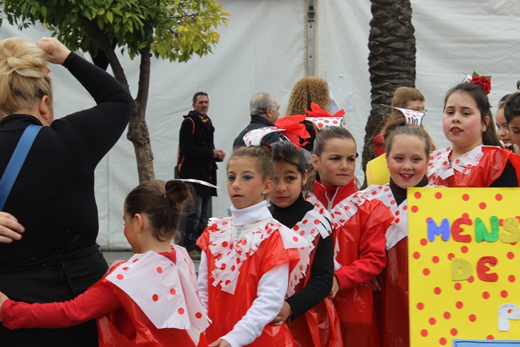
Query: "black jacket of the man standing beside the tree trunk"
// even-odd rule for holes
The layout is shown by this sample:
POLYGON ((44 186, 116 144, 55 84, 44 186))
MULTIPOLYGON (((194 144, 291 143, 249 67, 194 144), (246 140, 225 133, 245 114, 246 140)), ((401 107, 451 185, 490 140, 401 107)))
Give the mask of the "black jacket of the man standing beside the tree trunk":
MULTIPOLYGON (((212 120, 202 122, 195 110, 184 115, 179 132, 179 178, 204 180, 217 185, 217 160, 213 156, 215 145, 212 120)), ((197 195, 216 197, 217 190, 204 185, 193 185, 197 195)))

